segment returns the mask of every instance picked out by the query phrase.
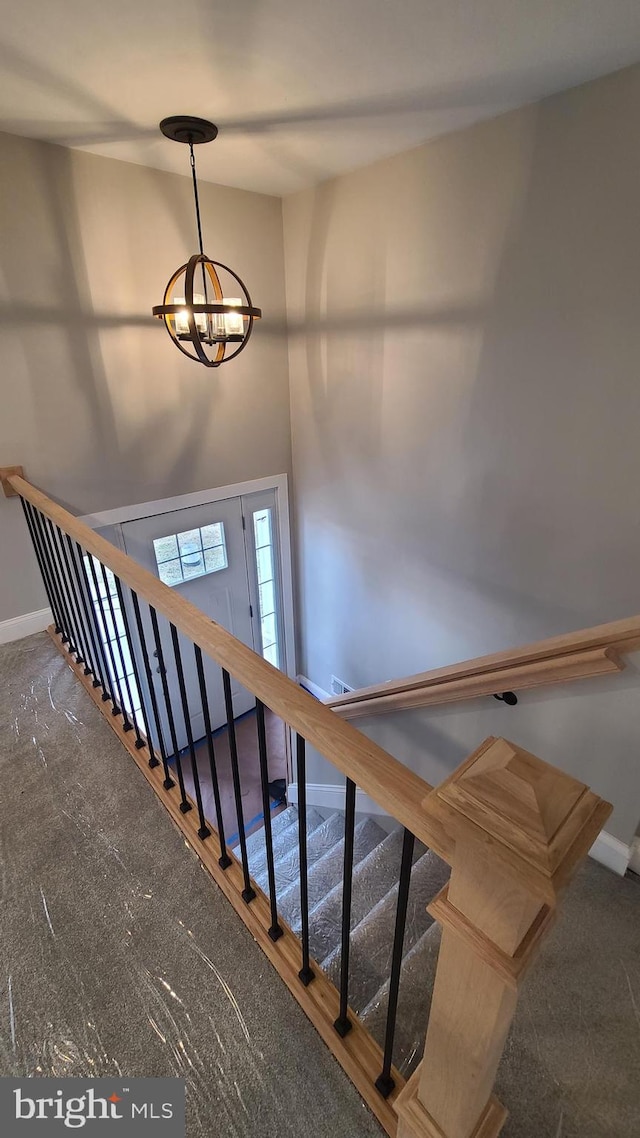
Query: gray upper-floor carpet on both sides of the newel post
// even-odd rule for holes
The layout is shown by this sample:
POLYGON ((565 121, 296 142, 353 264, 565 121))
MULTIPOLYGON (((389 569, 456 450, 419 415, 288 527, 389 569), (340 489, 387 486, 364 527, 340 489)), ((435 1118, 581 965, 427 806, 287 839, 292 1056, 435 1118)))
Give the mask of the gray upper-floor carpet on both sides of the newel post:
MULTIPOLYGON (((380 1135, 48 637, 0 648, 0 1074, 180 1075, 190 1138, 380 1135)), ((638 879, 580 871, 497 1090, 504 1138, 640 1136, 638 879)))

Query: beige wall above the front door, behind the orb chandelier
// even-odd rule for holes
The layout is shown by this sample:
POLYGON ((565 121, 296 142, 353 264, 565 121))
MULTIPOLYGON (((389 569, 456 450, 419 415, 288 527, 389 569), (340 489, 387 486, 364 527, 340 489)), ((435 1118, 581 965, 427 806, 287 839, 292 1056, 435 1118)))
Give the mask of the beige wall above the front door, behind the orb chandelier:
MULTIPOLYGON (((195 251, 190 178, 0 134, 0 465, 73 511, 290 469, 280 199, 203 183, 200 204, 206 251, 265 313, 216 370, 150 316, 195 251)), ((0 498, 0 620, 44 604, 0 498)))

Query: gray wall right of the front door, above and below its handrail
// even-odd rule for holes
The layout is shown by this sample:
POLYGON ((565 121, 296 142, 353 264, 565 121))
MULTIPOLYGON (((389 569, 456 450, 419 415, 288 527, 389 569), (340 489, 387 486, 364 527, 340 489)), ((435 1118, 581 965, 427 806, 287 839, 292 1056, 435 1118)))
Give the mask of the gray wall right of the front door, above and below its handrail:
MULTIPOLYGON (((322 687, 640 611, 639 115, 630 68, 286 199, 301 662, 322 687)), ((499 731, 609 795, 629 841, 635 673, 601 714, 596 691, 367 729, 433 782, 499 731)))

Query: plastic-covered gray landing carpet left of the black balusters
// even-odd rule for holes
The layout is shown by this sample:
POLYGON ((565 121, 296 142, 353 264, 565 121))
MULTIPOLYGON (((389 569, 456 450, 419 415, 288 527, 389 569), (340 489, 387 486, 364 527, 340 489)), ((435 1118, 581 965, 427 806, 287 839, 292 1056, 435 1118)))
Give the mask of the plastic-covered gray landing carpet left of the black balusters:
POLYGON ((46 635, 0 649, 0 1075, 178 1075, 189 1138, 379 1138, 46 635))

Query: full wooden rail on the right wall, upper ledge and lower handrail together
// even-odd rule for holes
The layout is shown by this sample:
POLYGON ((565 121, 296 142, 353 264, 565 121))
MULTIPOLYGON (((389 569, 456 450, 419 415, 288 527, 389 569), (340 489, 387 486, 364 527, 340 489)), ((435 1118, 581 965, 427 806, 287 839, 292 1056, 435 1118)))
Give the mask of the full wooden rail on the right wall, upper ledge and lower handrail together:
MULTIPOLYGON (((552 636, 549 640, 524 644, 520 648, 492 652, 490 655, 463 660, 445 668, 416 673, 404 679, 389 679, 384 684, 359 687, 344 695, 331 696, 325 700, 325 704, 344 718, 354 718, 355 714, 347 714, 347 708, 354 709, 369 703, 370 708, 367 711, 361 710, 356 714, 375 715, 377 714, 376 708, 386 710, 385 704, 379 701, 387 700, 389 696, 397 696, 397 699, 388 707, 401 710, 403 706, 420 707, 427 703, 449 703, 452 698, 469 699, 475 695, 491 695, 495 692, 511 691, 518 687, 564 683, 581 676, 598 676, 606 671, 621 670, 623 665, 617 659, 616 653, 625 654, 637 649, 640 649, 640 616, 629 617, 625 620, 614 620, 607 625, 596 625, 593 628, 582 628, 579 632, 552 636), (591 655, 585 653, 591 653, 591 655), (607 665, 607 658, 613 666, 607 665), (590 662, 593 663, 593 669, 590 669, 590 662), (600 665, 602 665, 601 668, 600 665), (527 668, 526 666, 532 667, 527 668), (572 671, 573 668, 576 670, 572 671), (469 684, 468 694, 456 694, 457 688, 453 685, 471 678, 476 683, 469 684), (433 699, 425 699, 424 703, 420 703, 418 699, 411 702, 417 692, 422 693, 422 695, 433 693, 433 699), (403 704, 403 698, 408 700, 405 704, 403 704)), ((465 688, 460 687, 459 691, 462 693, 465 688)))

